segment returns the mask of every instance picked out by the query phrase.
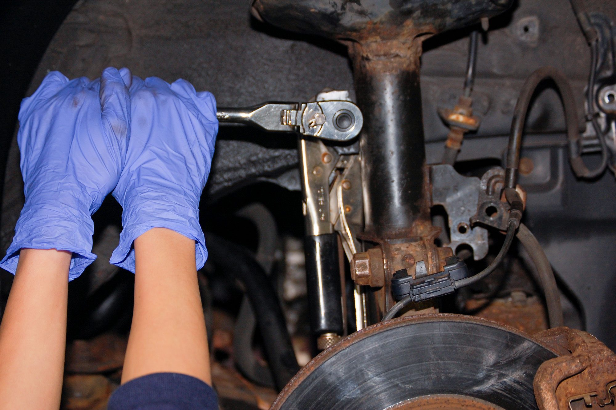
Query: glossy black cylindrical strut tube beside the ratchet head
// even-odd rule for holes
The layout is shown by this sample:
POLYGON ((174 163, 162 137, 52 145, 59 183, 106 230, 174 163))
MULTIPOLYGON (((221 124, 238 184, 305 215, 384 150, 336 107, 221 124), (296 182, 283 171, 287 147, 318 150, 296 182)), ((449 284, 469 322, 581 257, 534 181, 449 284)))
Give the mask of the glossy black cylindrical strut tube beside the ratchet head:
POLYGON ((365 230, 379 238, 408 236, 416 219, 428 219, 419 73, 360 68, 355 94, 364 115, 365 230))

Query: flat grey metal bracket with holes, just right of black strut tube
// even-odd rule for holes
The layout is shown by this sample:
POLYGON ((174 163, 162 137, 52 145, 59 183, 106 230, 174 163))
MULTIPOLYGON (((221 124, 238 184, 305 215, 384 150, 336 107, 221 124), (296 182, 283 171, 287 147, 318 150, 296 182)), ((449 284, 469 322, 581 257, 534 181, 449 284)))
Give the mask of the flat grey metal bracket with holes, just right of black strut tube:
POLYGON ((464 177, 447 164, 430 167, 432 205, 442 205, 447 211, 450 239, 448 244, 456 249, 461 244, 472 247, 475 260, 488 254, 488 231, 483 227, 471 227, 471 218, 479 205, 480 180, 464 177))

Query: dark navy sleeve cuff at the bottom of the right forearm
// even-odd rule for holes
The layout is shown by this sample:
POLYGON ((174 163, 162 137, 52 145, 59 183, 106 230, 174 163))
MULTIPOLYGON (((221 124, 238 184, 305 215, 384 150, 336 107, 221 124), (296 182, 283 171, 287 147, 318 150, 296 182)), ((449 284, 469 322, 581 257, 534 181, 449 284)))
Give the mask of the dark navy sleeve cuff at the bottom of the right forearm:
POLYGON ((113 392, 108 410, 218 410, 213 388, 185 374, 138 377, 113 392))

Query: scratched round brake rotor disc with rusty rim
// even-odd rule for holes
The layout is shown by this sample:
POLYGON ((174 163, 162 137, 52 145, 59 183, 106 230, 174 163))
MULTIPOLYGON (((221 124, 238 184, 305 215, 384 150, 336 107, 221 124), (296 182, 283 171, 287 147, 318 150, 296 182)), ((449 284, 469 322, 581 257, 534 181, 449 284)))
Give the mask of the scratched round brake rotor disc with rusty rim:
POLYGON ((315 357, 272 409, 537 409, 533 378, 556 353, 461 315, 378 323, 315 357))

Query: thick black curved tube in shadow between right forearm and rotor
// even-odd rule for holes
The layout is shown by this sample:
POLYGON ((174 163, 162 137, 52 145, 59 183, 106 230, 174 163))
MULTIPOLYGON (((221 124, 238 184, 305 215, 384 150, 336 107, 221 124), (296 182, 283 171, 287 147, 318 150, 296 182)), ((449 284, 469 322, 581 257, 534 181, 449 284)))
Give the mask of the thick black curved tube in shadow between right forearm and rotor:
POLYGON ((267 363, 278 390, 299 371, 277 294, 248 249, 219 236, 206 235, 209 257, 245 287, 261 332, 267 363))

